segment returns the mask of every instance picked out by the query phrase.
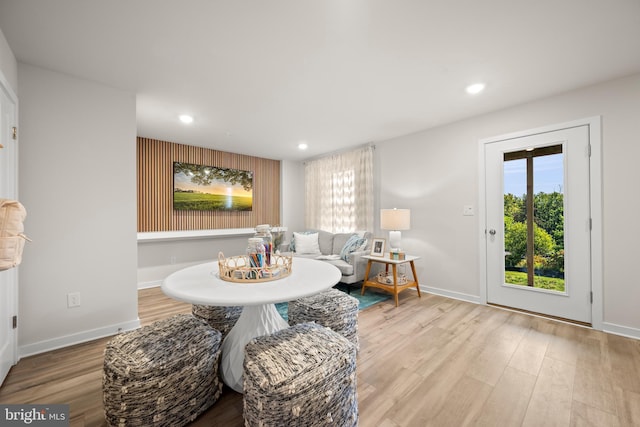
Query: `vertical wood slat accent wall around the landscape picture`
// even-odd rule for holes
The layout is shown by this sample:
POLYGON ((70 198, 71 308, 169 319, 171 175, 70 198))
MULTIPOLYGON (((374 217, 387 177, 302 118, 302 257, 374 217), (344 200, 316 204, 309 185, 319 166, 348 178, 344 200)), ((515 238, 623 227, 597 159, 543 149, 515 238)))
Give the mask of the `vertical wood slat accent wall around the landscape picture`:
POLYGON ((138 232, 280 224, 280 161, 138 137, 138 232), (250 212, 174 211, 173 162, 253 171, 250 212))

